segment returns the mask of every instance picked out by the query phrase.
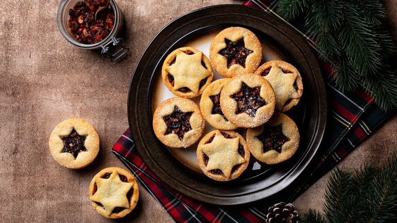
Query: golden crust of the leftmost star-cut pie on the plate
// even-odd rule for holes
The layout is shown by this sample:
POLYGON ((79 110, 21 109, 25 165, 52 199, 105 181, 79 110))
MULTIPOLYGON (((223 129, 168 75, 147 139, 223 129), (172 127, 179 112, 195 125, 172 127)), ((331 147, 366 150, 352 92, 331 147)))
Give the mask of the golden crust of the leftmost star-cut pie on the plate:
MULTIPOLYGON (((181 120, 176 120, 176 123, 181 123, 181 120)), ((164 145, 174 148, 186 148, 195 143, 203 134, 204 125, 205 122, 200 108, 193 101, 186 98, 174 97, 163 101, 156 108, 153 115, 153 130, 157 138, 164 145), (177 114, 191 114, 188 120, 191 129, 187 131, 183 129, 185 133, 181 136, 182 138, 177 134, 182 130, 176 130, 178 132, 175 132, 173 129, 168 128, 164 121, 164 118, 167 119, 167 117, 177 114)))

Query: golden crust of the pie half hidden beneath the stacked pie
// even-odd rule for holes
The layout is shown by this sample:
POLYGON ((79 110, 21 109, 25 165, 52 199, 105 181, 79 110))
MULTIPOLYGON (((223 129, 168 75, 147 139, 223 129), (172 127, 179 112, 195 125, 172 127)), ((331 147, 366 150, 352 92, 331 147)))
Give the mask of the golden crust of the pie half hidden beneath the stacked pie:
POLYGON ((215 101, 216 103, 219 103, 220 92, 225 83, 227 83, 229 80, 230 78, 222 78, 213 81, 203 92, 200 100, 200 109, 204 119, 207 120, 210 125, 217 129, 233 130, 238 128, 229 120, 226 120, 225 117, 222 116, 223 113, 213 114, 213 108, 215 106, 214 103, 215 101))

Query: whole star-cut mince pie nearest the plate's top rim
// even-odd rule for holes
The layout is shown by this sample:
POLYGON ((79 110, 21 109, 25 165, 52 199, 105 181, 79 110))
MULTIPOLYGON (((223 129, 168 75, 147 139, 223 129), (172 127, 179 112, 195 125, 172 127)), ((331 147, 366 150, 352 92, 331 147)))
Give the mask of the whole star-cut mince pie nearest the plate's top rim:
POLYGON ((222 30, 210 45, 210 60, 224 77, 253 73, 262 60, 262 46, 251 31, 242 27, 222 30))

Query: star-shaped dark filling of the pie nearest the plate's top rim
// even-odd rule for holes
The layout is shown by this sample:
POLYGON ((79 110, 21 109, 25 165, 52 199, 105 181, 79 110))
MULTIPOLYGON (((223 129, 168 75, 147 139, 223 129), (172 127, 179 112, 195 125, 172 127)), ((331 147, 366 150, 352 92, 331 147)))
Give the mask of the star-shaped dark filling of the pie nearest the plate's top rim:
POLYGON ((244 37, 235 42, 225 38, 224 42, 226 47, 221 49, 219 54, 228 61, 228 69, 234 64, 239 64, 245 68, 245 60, 253 51, 245 48, 244 37))

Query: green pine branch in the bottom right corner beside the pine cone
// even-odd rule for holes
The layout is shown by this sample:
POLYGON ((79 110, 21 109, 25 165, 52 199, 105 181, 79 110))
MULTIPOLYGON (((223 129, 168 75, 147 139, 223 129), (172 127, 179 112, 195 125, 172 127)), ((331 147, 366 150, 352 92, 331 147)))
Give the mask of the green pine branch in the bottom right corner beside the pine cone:
POLYGON ((335 168, 325 192, 324 215, 309 210, 302 222, 397 222, 397 151, 383 166, 349 172, 335 168))

